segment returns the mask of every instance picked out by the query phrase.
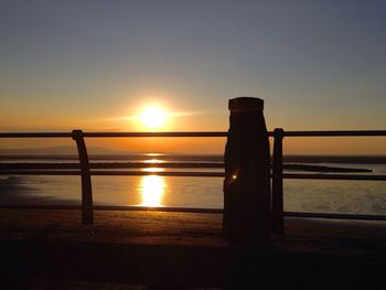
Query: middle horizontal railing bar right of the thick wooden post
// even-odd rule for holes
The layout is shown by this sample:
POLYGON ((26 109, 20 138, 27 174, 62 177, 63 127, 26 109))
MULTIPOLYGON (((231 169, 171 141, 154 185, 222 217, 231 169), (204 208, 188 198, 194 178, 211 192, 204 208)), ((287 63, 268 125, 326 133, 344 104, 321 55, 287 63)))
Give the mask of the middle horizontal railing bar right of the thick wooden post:
POLYGON ((301 173, 283 173, 283 179, 294 180, 369 180, 386 181, 386 175, 365 175, 365 174, 301 174, 301 173))

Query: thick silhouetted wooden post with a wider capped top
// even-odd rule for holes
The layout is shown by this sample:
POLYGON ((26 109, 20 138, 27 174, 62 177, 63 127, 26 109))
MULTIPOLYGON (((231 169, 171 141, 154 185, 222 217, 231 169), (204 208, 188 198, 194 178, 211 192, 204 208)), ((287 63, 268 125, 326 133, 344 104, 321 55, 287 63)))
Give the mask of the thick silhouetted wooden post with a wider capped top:
POLYGON ((230 244, 270 239, 270 155, 264 100, 229 100, 229 131, 225 147, 223 228, 230 244))

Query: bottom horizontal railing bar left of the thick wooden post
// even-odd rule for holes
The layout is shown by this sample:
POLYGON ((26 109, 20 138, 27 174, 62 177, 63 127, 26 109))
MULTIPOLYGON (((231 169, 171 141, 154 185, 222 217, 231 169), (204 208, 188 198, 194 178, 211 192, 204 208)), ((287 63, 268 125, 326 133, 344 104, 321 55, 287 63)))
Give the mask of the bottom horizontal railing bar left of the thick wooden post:
MULTIPOLYGON (((82 205, 33 205, 33 204, 0 204, 3 210, 82 210, 82 205)), ((95 211, 148 211, 148 212, 176 212, 176 213, 205 213, 221 214, 222 208, 201 208, 201 207, 172 207, 172 206, 129 206, 129 205, 94 205, 87 208, 95 211)))

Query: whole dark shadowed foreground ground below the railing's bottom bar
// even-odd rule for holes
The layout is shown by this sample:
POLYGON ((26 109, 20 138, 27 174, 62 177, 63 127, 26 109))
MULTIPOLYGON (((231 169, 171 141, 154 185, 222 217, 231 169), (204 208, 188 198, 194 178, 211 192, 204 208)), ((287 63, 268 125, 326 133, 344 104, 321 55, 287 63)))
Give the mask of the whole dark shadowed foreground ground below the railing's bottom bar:
POLYGON ((386 289, 386 223, 288 218, 286 236, 229 247, 222 215, 0 211, 2 288, 386 289))

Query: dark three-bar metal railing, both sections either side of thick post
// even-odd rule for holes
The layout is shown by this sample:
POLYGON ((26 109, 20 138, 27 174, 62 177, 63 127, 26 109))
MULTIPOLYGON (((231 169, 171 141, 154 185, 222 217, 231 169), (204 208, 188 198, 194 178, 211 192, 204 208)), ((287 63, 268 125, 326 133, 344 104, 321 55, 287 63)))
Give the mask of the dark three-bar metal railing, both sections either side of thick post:
MULTIPOLYGON (((146 171, 107 171, 93 170, 89 163, 84 138, 214 138, 227 137, 227 132, 207 131, 207 132, 83 132, 74 130, 73 132, 2 132, 0 138, 72 138, 77 146, 79 168, 77 170, 53 170, 53 169, 23 169, 23 170, 0 170, 0 174, 30 174, 30 175, 81 175, 82 176, 82 205, 0 205, 0 208, 41 208, 41 210, 82 210, 82 222, 93 224, 94 210, 98 211, 162 211, 162 212, 187 212, 187 213, 222 213, 221 208, 192 208, 192 207, 146 207, 146 206, 109 206, 93 205, 92 175, 147 175, 157 174, 162 176, 206 176, 224 178, 223 172, 206 171, 165 171, 165 172, 146 172, 146 171)), ((361 131, 283 131, 275 129, 268 132, 274 137, 272 155, 272 217, 274 232, 283 233, 283 217, 310 217, 310 218, 347 218, 347 219, 367 219, 386 221, 385 215, 355 215, 355 214, 330 214, 330 213, 303 213, 283 211, 283 179, 318 179, 318 180, 372 180, 386 181, 386 175, 365 175, 365 174, 304 174, 304 173, 283 173, 282 160, 282 140, 285 137, 376 137, 386 136, 386 130, 361 130, 361 131)), ((162 163, 163 165, 163 163, 162 163)), ((168 164, 165 164, 168 165, 168 164)), ((187 168, 187 164, 173 164, 171 168, 187 168)), ((138 167, 136 167, 138 168, 138 167)), ((200 168, 213 168, 213 165, 202 164, 200 168)))

